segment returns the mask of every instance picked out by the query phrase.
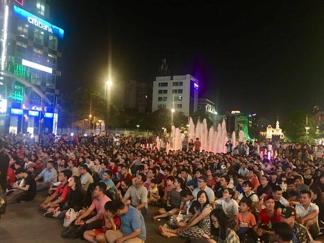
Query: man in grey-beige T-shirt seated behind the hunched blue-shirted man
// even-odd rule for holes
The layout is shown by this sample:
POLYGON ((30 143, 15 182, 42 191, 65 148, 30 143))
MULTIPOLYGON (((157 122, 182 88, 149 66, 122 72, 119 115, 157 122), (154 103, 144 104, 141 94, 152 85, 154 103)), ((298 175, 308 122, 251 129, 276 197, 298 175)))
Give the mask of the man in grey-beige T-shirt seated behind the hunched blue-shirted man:
POLYGON ((131 204, 142 215, 146 215, 148 211, 148 190, 143 186, 145 181, 146 175, 140 173, 135 179, 135 184, 128 188, 125 196, 122 198, 123 203, 126 205, 131 204))

